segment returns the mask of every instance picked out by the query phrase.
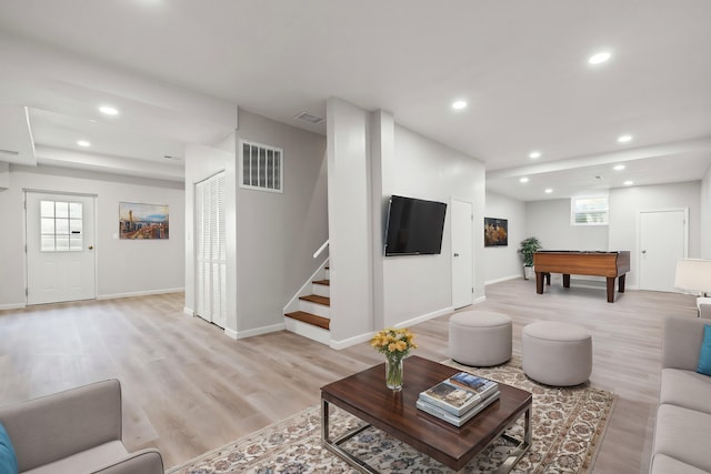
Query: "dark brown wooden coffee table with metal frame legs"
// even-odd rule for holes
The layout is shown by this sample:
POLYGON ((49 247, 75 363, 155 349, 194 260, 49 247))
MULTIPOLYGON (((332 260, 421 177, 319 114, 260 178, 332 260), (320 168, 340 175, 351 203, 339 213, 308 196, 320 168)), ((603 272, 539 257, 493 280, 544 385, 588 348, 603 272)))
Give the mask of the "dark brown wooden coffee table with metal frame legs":
POLYGON ((384 364, 375 365, 321 387, 321 438, 324 447, 365 473, 377 473, 362 460, 340 445, 369 426, 409 444, 445 466, 461 471, 484 447, 499 436, 518 443, 498 472, 509 472, 531 446, 531 404, 529 392, 499 383, 501 395, 461 427, 451 425, 415 406, 420 392, 459 372, 454 367, 410 356, 404 361, 404 386, 401 392, 385 387, 384 364), (337 440, 329 428, 330 404, 364 421, 337 440), (524 418, 523 440, 513 440, 503 432, 519 417, 524 418))

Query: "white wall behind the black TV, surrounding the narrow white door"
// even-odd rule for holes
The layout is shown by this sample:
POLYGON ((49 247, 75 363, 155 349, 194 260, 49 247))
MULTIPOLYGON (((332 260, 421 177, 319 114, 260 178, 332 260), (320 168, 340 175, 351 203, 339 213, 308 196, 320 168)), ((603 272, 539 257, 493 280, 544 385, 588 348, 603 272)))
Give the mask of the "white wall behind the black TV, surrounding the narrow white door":
MULTIPOLYGON (((452 311, 451 198, 473 204, 474 294, 484 295, 483 222, 484 167, 403 127, 394 129, 394 153, 383 162, 382 199, 392 194, 448 203, 442 251, 439 255, 389 256, 384 259, 385 325, 452 311)), ((384 211, 384 206, 383 206, 384 211)), ((380 244, 382 252, 382 241, 380 244)))

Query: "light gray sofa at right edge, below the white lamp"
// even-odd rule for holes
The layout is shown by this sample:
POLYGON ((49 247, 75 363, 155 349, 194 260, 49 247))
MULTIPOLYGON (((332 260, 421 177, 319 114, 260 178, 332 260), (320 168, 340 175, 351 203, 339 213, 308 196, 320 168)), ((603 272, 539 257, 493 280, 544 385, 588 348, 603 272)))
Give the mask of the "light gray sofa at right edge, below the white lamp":
POLYGON ((711 473, 711 376, 697 373, 704 319, 668 317, 650 473, 711 473))

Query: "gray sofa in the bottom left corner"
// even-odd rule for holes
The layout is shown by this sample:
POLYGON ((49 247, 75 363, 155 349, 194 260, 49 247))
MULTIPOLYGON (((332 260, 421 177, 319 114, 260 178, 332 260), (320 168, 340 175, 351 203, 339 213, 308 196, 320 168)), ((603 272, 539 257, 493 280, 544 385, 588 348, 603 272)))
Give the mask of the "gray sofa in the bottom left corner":
POLYGON ((123 446, 117 380, 0 407, 0 423, 21 473, 163 474, 158 450, 123 446))

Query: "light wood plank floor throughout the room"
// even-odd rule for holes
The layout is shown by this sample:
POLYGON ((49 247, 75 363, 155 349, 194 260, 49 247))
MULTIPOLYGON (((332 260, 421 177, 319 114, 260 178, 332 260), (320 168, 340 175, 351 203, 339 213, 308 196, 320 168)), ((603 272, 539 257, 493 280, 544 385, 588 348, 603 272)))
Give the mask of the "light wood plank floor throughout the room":
MULTIPOLYGON (((695 316, 693 296, 603 290, 543 295, 532 281, 487 286, 487 307, 521 330, 569 321, 593 333, 591 383, 619 399, 595 473, 647 473, 659 394, 660 327, 665 315, 695 316)), ((166 467, 183 463, 319 402, 319 387, 382 362, 367 343, 342 351, 279 332, 233 341, 182 313, 182 294, 0 311, 0 405, 117 377, 123 387, 129 450, 156 446, 166 467)), ((448 357, 449 315, 411 327, 418 355, 448 357)), ((407 379, 407 374, 405 374, 407 379)))

